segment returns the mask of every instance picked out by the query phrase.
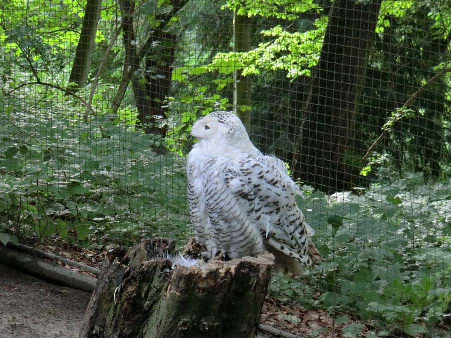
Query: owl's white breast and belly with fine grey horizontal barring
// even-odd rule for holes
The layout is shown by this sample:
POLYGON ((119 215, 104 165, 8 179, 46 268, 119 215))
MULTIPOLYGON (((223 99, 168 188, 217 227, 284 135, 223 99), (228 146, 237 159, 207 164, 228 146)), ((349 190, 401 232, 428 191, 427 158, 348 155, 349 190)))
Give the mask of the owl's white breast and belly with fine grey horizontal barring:
POLYGON ((237 258, 263 251, 260 232, 242 207, 241 200, 250 198, 248 191, 240 190, 234 185, 236 181, 228 179, 237 175, 233 161, 228 159, 214 156, 198 159, 191 153, 188 156, 191 223, 196 239, 206 247, 210 257, 218 252, 237 258))

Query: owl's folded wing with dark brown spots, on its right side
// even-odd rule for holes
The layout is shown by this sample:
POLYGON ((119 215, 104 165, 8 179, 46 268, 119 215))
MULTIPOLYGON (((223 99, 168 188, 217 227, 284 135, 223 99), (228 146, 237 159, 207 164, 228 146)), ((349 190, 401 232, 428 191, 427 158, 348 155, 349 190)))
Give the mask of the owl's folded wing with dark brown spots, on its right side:
MULTIPOLYGON (((301 191, 280 159, 250 155, 239 162, 238 177, 253 196, 254 208, 247 210, 248 217, 264 234, 268 246, 308 266, 322 259, 296 204, 301 191)), ((242 204, 246 209, 246 202, 242 204)))

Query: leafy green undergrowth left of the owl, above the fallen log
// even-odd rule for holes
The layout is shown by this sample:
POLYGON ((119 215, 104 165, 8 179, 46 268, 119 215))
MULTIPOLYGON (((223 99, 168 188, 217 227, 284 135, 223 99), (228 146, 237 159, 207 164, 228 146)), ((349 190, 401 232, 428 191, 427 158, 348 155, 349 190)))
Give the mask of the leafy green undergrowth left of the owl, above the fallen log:
POLYGON ((184 159, 155 154, 160 136, 107 116, 85 124, 15 112, 0 120, 2 242, 55 233, 96 246, 185 238, 184 159))

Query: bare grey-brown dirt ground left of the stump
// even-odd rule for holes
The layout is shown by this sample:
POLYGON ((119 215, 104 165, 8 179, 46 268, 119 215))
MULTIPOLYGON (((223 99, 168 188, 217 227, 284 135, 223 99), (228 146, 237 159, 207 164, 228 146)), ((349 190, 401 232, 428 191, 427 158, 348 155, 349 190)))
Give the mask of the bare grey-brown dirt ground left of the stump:
POLYGON ((0 338, 75 338, 91 294, 0 265, 0 338))

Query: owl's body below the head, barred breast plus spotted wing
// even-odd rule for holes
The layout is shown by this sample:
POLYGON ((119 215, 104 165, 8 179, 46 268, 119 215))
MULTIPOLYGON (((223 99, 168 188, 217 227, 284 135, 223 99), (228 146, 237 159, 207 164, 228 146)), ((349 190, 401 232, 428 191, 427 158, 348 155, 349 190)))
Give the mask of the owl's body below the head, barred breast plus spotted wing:
POLYGON ((256 256, 267 247, 308 266, 321 259, 296 205, 299 188, 280 162, 264 155, 196 159, 190 153, 191 221, 210 256, 256 256))

